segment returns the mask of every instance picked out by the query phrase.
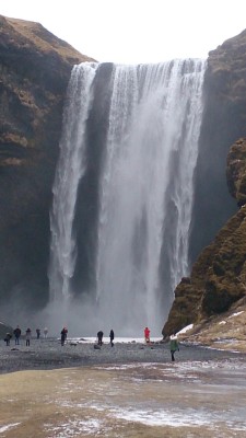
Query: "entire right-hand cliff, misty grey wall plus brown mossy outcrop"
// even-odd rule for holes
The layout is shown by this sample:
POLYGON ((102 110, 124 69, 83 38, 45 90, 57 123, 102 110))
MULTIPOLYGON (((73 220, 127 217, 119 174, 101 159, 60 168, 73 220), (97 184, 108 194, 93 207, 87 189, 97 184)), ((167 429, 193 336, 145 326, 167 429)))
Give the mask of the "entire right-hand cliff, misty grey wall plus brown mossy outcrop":
POLYGON ((177 286, 164 337, 246 296, 246 31, 209 54, 204 91, 192 242, 202 249, 208 230, 216 237, 177 286), (229 192, 241 209, 226 222, 236 206, 229 192))

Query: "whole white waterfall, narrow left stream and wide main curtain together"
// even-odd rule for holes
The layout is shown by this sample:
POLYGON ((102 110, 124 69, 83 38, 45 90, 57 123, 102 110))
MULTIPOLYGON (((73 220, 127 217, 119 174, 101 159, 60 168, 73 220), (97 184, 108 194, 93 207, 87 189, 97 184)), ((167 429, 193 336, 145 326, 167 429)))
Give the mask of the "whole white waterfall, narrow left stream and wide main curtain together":
MULTIPOLYGON (((81 293, 87 333, 106 323, 118 334, 142 334, 145 325, 160 334, 173 291, 188 274, 204 69, 204 61, 191 59, 113 65, 106 78, 110 99, 107 110, 101 102, 108 117, 101 145, 90 307, 81 293)), ((77 263, 72 226, 78 184, 93 148, 90 141, 85 147, 84 131, 91 105, 98 105, 95 91, 92 102, 94 74, 99 68, 83 64, 71 79, 80 77, 83 102, 78 111, 79 92, 70 94, 54 186, 50 289, 56 297, 78 295, 71 283, 77 263)))

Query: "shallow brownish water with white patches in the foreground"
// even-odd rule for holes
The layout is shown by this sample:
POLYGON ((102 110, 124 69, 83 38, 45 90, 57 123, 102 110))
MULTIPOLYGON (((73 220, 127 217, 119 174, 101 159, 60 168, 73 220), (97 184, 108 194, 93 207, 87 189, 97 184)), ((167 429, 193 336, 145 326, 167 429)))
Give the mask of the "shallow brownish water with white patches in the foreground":
POLYGON ((246 437, 246 364, 102 365, 0 376, 0 437, 246 437))

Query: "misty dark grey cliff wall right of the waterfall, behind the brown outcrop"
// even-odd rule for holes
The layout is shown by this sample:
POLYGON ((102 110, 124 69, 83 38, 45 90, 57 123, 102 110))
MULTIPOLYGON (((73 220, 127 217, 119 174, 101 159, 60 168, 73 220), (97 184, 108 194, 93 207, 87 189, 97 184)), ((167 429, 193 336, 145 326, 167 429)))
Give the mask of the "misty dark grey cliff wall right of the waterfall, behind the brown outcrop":
POLYGON ((246 137, 246 31, 210 51, 196 175, 190 260, 214 239, 236 203, 226 187, 230 147, 246 137))

